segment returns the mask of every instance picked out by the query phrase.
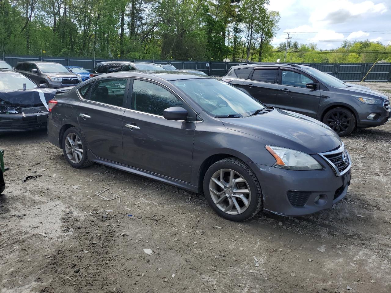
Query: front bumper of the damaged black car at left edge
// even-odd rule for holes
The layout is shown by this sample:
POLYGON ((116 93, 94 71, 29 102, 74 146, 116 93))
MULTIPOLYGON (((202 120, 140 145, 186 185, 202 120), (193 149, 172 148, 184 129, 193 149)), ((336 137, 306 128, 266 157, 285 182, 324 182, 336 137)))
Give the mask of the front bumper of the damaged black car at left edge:
POLYGON ((0 115, 0 134, 46 128, 48 112, 0 115))

